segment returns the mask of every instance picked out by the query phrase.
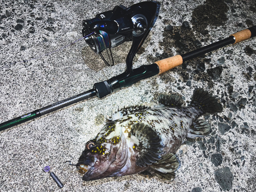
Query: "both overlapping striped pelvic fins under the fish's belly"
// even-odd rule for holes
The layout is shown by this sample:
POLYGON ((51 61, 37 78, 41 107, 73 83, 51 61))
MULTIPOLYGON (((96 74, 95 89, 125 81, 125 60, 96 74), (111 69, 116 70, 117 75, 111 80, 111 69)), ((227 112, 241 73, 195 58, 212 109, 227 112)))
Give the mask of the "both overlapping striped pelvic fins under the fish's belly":
POLYGON ((171 180, 174 178, 174 171, 178 168, 179 162, 173 153, 161 158, 157 163, 152 164, 150 173, 160 179, 171 180))

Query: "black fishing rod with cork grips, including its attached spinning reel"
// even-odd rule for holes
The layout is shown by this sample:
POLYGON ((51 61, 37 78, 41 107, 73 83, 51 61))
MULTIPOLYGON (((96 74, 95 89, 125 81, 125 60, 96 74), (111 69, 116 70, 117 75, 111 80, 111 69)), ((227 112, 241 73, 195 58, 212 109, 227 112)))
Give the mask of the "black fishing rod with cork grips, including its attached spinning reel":
MULTIPOLYGON (((83 36, 93 32, 93 34, 86 37, 85 40, 95 53, 101 54, 103 50, 109 49, 110 54, 108 53, 108 55, 110 57, 110 55, 112 56, 110 48, 118 46, 124 41, 133 41, 132 47, 126 58, 125 72, 112 77, 109 80, 95 83, 91 90, 3 122, 0 124, 0 131, 91 97, 97 96, 98 98, 103 98, 116 90, 131 86, 142 79, 162 74, 181 65, 187 60, 196 58, 200 55, 230 44, 237 44, 238 42, 256 36, 256 26, 253 26, 200 49, 183 55, 175 55, 173 57, 165 58, 156 61, 151 65, 143 65, 139 68, 132 69, 133 58, 150 32, 156 13, 156 3, 141 2, 129 8, 116 6, 112 11, 100 13, 90 20, 83 20, 83 36)), ((101 55, 101 58, 102 57, 103 56, 101 55)), ((110 65, 110 63, 108 63, 104 58, 102 59, 107 65, 110 65)), ((110 60, 113 61, 113 57, 112 59, 110 58, 110 60)))

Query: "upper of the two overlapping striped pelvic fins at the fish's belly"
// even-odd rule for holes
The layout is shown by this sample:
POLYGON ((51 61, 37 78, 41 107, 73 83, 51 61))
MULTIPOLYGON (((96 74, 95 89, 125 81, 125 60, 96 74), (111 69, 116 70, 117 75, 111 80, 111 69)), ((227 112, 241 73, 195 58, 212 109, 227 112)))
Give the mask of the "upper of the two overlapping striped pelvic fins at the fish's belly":
MULTIPOLYGON (((179 162, 173 153, 169 153, 162 157, 157 163, 152 164, 150 167, 153 171, 162 174, 173 173, 179 166, 179 162)), ((159 174, 159 173, 158 173, 159 174)))

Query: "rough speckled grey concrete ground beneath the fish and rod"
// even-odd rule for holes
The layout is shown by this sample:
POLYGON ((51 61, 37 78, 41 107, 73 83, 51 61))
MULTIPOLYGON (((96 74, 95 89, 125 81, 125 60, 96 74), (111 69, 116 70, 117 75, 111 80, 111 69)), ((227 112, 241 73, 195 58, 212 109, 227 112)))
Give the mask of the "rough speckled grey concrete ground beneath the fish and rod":
MULTIPOLYGON (((113 49, 107 67, 82 37, 81 21, 139 1, 22 1, 0 5, 0 122, 92 89, 125 70, 131 44, 113 49), (61 49, 63 48, 63 49, 61 49), (61 50, 59 50, 61 49, 61 50), (56 51, 59 50, 59 51, 56 51), (49 53, 49 54, 48 54, 49 53)), ((254 0, 160 1, 150 35, 134 67, 183 54, 256 24, 254 0)), ((97 97, 0 133, 0 191, 255 191, 256 38, 185 62, 105 98, 97 97), (141 174, 85 182, 74 166, 85 143, 117 106, 154 101, 178 93, 190 101, 195 88, 216 95, 223 112, 202 139, 177 151, 174 181, 141 174), (49 165, 61 182, 59 189, 49 165)))

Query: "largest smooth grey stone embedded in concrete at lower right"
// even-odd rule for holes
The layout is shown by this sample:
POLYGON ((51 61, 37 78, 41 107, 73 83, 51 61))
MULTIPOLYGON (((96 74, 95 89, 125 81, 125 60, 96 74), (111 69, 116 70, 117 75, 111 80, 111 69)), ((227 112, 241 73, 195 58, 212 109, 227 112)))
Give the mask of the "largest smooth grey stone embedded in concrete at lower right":
POLYGON ((215 171, 215 180, 224 191, 232 188, 233 179, 234 176, 229 167, 219 168, 215 171))

